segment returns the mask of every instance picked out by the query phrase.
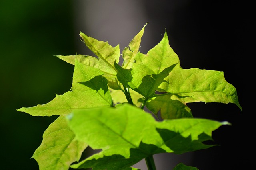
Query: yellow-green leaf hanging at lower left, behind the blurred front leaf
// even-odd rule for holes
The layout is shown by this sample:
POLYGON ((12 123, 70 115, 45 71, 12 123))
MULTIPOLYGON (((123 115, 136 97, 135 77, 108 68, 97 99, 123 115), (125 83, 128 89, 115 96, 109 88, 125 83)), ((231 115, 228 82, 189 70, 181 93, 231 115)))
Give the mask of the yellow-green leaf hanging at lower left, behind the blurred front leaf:
POLYGON ((87 146, 75 140, 66 118, 60 116, 46 129, 32 158, 38 162, 40 170, 68 170, 73 162, 79 161, 87 146))

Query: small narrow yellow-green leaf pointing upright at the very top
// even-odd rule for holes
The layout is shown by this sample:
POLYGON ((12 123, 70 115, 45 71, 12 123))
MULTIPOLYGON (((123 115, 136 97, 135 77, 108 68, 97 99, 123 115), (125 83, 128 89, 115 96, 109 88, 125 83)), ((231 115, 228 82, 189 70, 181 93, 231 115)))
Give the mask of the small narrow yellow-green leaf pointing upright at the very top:
MULTIPOLYGON (((146 23, 147 25, 148 23, 146 23)), ((140 30, 140 32, 132 39, 132 41, 129 43, 129 47, 125 47, 123 50, 123 59, 124 63, 122 64, 122 68, 130 69, 133 67, 134 64, 134 57, 138 53, 139 48, 140 48, 140 42, 141 42, 141 37, 144 34, 144 27, 140 30)))

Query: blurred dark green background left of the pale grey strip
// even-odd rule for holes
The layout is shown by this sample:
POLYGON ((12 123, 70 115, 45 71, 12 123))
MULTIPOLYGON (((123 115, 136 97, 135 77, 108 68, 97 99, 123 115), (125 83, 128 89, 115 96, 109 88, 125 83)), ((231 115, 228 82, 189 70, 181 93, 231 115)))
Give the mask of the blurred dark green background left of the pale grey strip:
POLYGON ((54 55, 75 54, 72 10, 70 0, 0 1, 2 170, 38 169, 30 157, 56 117, 16 109, 45 104, 70 90, 73 67, 54 55))

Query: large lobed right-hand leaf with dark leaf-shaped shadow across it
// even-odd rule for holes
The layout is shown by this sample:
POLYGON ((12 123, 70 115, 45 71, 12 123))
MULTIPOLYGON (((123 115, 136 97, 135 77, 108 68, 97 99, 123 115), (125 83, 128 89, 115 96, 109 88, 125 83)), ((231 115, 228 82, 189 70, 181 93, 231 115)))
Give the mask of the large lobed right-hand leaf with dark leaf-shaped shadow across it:
POLYGON ((130 69, 115 63, 116 76, 122 84, 145 97, 150 111, 154 114, 161 111, 163 119, 192 117, 186 106, 190 102, 234 103, 242 110, 236 88, 226 82, 223 72, 180 67, 166 32, 158 45, 146 55, 138 52, 134 61, 130 69), (157 91, 166 94, 158 95, 157 91))

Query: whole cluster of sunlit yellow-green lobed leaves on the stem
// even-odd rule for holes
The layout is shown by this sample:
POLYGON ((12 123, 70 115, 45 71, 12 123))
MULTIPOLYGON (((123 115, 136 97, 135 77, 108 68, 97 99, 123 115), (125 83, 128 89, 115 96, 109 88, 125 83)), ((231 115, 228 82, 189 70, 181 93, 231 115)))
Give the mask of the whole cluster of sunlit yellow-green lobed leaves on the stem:
POLYGON ((242 110, 223 72, 181 68, 166 32, 147 54, 140 53, 145 26, 123 50, 122 64, 119 45, 81 32, 97 57, 57 56, 74 65, 71 90, 47 104, 18 109, 32 116, 59 115, 32 156, 40 169, 136 170, 131 166, 145 158, 154 170, 152 155, 207 149, 214 146, 203 143, 212 140, 212 131, 230 124, 193 118, 187 103, 234 103, 242 110), (101 151, 80 160, 88 146, 101 151))

